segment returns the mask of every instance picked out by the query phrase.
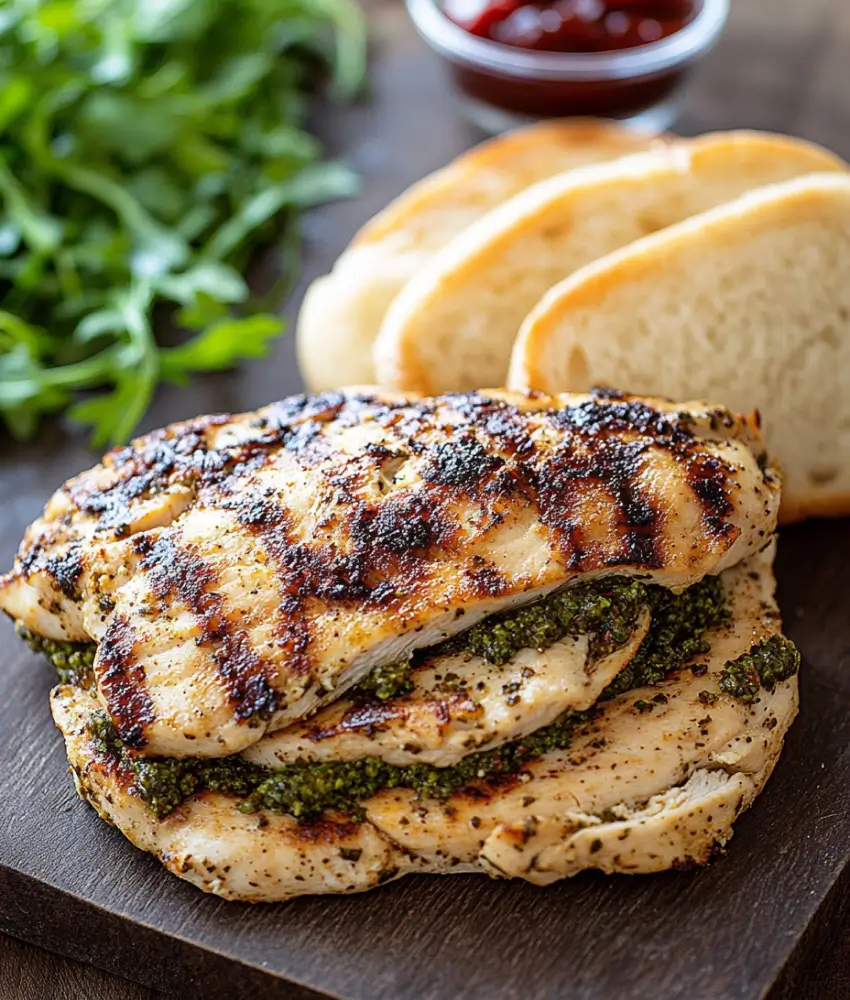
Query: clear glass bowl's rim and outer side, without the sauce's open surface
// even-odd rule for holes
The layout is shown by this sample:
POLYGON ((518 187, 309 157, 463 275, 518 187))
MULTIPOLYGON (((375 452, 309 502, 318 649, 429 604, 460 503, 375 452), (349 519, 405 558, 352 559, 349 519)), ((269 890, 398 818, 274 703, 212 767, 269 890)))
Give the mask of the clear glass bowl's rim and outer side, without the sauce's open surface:
POLYGON ((490 133, 541 118, 590 115, 663 131, 676 117, 688 70, 714 45, 729 0, 701 0, 682 29, 613 52, 540 52, 469 34, 437 0, 406 0, 413 24, 443 57, 467 115, 490 133))

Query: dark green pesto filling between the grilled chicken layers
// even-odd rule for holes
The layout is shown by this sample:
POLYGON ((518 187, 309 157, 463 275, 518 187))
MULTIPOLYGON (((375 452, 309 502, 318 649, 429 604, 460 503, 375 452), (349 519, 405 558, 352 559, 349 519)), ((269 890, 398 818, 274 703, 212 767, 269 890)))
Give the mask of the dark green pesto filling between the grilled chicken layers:
MULTIPOLYGON (((357 697, 389 698, 412 687, 416 663, 440 652, 468 651, 494 663, 505 663, 522 648, 546 648, 565 635, 589 634, 592 655, 603 656, 627 641, 643 607, 651 610, 649 632, 636 655, 603 692, 600 701, 625 691, 657 684, 709 651, 706 632, 727 616, 723 586, 707 577, 681 594, 627 578, 582 584, 549 595, 533 605, 495 615, 466 632, 422 651, 412 663, 378 668, 356 689, 357 697)), ((60 670, 76 664, 90 670, 93 646, 53 643, 26 635, 60 670)), ((781 636, 759 646, 724 668, 721 688, 745 701, 758 690, 772 690, 777 681, 796 673, 799 654, 781 636)), ((78 669, 79 668, 79 669, 78 669)), ((63 678, 64 679, 64 678, 63 678)), ((72 681, 80 683, 79 680, 72 681)), ((132 769, 140 797, 158 817, 167 816, 190 795, 209 789, 241 800, 239 808, 266 809, 310 819, 327 810, 357 815, 358 804, 387 788, 410 788, 424 797, 448 798, 475 782, 493 783, 516 773, 535 757, 566 749, 576 729, 594 717, 568 712, 549 726, 494 750, 470 754, 448 767, 430 764, 388 764, 380 758, 357 761, 297 763, 281 768, 258 767, 241 757, 221 759, 145 758, 128 751, 118 739, 105 712, 90 724, 102 752, 120 756, 132 769)))

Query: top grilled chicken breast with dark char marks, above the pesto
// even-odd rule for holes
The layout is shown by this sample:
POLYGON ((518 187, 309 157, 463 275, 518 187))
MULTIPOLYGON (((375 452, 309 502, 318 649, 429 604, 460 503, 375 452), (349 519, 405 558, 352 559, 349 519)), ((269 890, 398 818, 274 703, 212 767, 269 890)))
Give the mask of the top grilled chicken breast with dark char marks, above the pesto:
POLYGON ((97 642, 126 743, 220 756, 574 581, 720 573, 770 538, 778 499, 757 420, 704 404, 302 396, 173 425, 71 480, 0 608, 97 642))

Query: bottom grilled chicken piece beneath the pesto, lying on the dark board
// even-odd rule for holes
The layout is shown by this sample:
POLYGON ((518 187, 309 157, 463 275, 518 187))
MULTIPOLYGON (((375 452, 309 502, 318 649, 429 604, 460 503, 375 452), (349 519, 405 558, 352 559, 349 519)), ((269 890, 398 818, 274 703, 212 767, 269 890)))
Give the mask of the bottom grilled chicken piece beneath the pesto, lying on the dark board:
POLYGON ((363 803, 360 820, 326 815, 304 824, 245 814, 215 792, 157 820, 132 773, 92 738, 95 697, 57 688, 54 718, 77 786, 101 816, 175 874, 226 898, 354 892, 416 871, 486 871, 546 884, 585 868, 652 872, 700 863, 728 840, 769 777, 796 713, 796 677, 753 702, 720 686, 727 661, 778 633, 771 559, 768 550, 724 572, 731 614, 710 633, 709 653, 662 684, 605 703, 568 750, 448 800, 382 792, 363 803))

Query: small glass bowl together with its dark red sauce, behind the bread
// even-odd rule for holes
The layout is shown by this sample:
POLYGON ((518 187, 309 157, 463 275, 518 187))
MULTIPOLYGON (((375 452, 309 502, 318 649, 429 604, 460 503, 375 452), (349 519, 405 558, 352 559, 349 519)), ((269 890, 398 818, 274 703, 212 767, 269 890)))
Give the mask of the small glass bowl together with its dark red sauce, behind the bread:
POLYGON ((729 0, 406 0, 488 132, 591 115, 661 131, 729 0))

